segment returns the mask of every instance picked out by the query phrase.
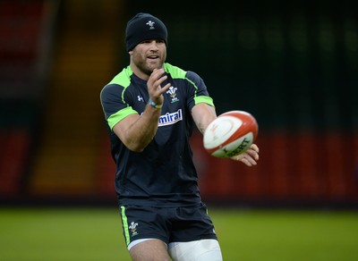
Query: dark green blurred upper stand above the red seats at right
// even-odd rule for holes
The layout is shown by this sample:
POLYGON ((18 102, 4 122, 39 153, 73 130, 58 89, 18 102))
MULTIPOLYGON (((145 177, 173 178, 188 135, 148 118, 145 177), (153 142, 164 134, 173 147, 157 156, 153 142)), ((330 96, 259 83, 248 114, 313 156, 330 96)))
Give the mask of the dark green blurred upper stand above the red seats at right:
POLYGON ((242 108, 274 131, 356 128, 352 1, 164 3, 128 9, 166 21, 168 62, 202 75, 218 113, 242 108))

